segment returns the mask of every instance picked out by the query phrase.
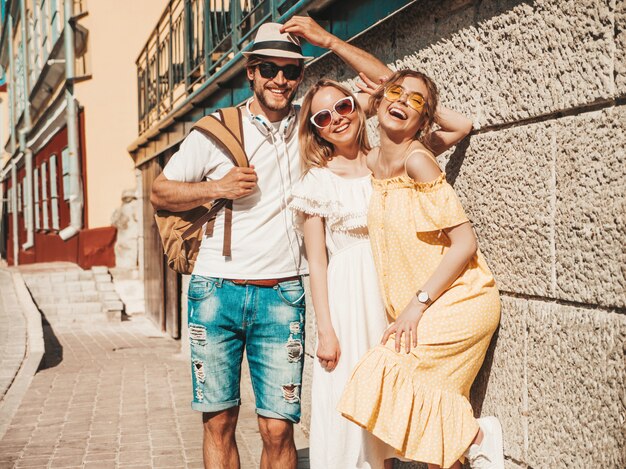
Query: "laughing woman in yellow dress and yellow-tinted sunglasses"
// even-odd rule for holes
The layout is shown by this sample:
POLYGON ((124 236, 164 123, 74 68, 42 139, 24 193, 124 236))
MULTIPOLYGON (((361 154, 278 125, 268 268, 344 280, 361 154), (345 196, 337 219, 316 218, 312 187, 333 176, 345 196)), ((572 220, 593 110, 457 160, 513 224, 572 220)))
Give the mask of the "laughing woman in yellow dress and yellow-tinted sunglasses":
POLYGON ((368 229, 391 325, 357 364, 338 405, 403 458, 433 468, 503 469, 495 417, 475 419, 471 385, 500 320, 493 276, 465 212, 421 142, 438 93, 426 75, 396 72, 371 98, 380 147, 368 229))

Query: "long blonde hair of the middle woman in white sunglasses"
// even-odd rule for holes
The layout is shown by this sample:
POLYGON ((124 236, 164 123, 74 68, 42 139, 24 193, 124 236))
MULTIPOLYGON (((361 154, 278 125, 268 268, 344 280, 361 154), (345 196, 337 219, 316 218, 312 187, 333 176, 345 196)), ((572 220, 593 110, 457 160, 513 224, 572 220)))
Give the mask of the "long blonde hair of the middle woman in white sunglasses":
POLYGON ((333 156, 335 152, 333 144, 324 140, 319 135, 318 128, 311 123, 311 103, 313 102, 313 97, 322 88, 335 88, 354 100, 354 110, 359 116, 359 130, 356 136, 359 149, 364 153, 369 152, 371 149, 367 138, 367 128, 365 127, 367 117, 361 106, 359 106, 354 94, 336 81, 319 80, 307 91, 302 101, 302 108, 300 109, 298 139, 300 142, 300 161, 302 162, 303 173, 308 172, 313 167, 325 167, 328 164, 328 158, 333 156))

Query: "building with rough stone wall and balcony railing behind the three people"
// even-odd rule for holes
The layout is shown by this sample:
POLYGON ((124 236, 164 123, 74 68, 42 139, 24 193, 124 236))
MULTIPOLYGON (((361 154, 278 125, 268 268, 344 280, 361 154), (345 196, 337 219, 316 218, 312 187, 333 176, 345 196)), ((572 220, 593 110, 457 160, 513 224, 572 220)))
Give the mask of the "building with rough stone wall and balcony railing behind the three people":
MULTIPOLYGON (((442 102, 474 120, 441 164, 503 302, 472 389, 477 415, 502 421, 508 468, 625 467, 626 2, 382 3, 169 2, 138 60, 129 151, 144 193, 192 122, 249 95, 240 50, 259 22, 309 12, 392 68, 425 71, 442 102)), ((356 79, 320 53, 307 50, 318 58, 301 95, 320 78, 356 79)), ((146 299, 173 327, 180 280, 164 267, 151 210, 146 203, 146 299)), ((310 328, 311 308, 307 318, 310 328)), ((306 353, 305 404, 314 333, 306 353)))

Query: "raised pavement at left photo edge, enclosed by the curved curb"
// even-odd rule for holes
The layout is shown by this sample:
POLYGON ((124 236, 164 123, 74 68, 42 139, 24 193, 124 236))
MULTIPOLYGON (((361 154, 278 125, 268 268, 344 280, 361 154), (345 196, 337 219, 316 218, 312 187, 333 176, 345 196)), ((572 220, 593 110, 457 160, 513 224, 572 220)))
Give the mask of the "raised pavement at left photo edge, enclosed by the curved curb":
POLYGON ((26 319, 20 311, 13 278, 0 269, 0 401, 17 374, 26 352, 26 319))

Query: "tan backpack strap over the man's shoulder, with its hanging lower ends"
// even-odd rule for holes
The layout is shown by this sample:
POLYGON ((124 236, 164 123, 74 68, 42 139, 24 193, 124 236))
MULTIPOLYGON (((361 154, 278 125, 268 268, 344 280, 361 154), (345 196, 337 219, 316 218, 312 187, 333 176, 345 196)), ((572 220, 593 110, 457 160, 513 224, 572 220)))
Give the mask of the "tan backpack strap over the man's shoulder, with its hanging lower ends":
MULTIPOLYGON (((219 109, 220 119, 215 116, 205 116, 196 122, 192 129, 197 130, 206 137, 211 138, 230 158, 235 166, 250 166, 248 156, 243 143, 243 119, 241 109, 229 107, 219 109)), ((218 199, 208 208, 198 219, 185 230, 183 239, 202 228, 205 223, 207 236, 213 235, 215 226, 215 218, 217 213, 222 209, 224 213, 224 244, 222 246, 222 255, 231 256, 231 234, 233 223, 233 201, 230 199, 218 199)))

